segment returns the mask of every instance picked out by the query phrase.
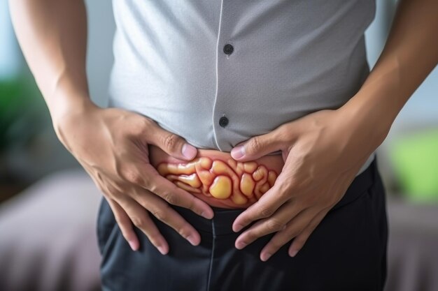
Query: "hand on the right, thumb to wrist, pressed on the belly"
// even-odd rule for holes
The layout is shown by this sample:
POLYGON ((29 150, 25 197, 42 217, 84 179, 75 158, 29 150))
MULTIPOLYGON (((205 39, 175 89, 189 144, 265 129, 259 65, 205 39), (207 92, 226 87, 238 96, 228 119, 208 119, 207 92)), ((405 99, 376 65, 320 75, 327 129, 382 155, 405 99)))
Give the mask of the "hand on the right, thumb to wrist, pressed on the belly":
POLYGON ((313 112, 270 133, 252 137, 232 150, 236 161, 251 161, 277 150, 282 151, 285 161, 274 186, 235 219, 234 232, 260 220, 241 233, 236 248, 271 232, 277 233, 262 249, 262 261, 293 238, 290 256, 294 257, 304 246, 381 144, 380 137, 370 135, 372 125, 360 124, 359 128, 351 115, 341 110, 313 112), (236 148, 241 145, 244 155, 238 158, 236 148))

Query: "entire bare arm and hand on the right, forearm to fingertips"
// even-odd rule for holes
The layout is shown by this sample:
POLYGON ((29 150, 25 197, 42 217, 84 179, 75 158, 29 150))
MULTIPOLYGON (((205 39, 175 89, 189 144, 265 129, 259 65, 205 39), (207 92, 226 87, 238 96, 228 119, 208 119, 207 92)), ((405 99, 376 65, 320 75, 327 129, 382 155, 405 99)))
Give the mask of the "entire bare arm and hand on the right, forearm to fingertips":
POLYGON ((276 150, 285 157, 274 186, 236 217, 235 232, 255 222, 236 239, 236 248, 273 232, 260 260, 268 260, 291 239, 290 256, 303 248, 344 196, 360 166, 385 140, 409 97, 437 65, 437 15, 436 0, 400 1, 376 66, 345 105, 282 124, 232 149, 236 161, 276 150))

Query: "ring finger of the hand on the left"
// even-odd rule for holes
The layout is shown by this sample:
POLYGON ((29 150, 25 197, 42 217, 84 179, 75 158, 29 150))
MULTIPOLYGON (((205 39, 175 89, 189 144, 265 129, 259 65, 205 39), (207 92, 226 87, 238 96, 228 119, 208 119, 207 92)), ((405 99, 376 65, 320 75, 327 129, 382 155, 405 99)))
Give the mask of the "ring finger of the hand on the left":
POLYGON ((141 232, 146 234, 150 243, 163 255, 167 254, 169 251, 167 241, 162 236, 160 230, 158 230, 157 225, 155 225, 150 218, 148 211, 128 196, 118 200, 118 204, 126 211, 132 223, 138 227, 141 232))

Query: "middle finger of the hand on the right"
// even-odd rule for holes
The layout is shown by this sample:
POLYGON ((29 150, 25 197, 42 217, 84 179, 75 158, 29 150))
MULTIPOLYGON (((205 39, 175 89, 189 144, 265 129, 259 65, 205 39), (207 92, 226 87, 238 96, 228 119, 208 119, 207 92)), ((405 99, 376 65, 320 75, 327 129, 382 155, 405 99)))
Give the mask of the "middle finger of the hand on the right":
POLYGON ((280 207, 280 209, 278 209, 274 215, 269 218, 262 219, 261 221, 257 221, 257 223, 251 225, 248 230, 242 232, 236 239, 236 248, 244 248, 259 237, 283 230, 283 227, 285 227, 286 223, 291 221, 292 218, 297 216, 297 214, 303 210, 304 209, 297 207, 297 204, 295 203, 283 204, 283 206, 280 207))

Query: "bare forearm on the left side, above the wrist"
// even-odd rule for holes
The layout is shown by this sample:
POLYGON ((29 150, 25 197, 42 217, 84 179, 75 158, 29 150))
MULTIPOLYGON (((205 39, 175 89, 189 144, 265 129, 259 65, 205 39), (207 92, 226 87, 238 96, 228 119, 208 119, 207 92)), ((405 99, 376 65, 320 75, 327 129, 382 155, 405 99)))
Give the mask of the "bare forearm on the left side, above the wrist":
POLYGON ((55 123, 91 103, 83 0, 10 0, 17 40, 55 123))

